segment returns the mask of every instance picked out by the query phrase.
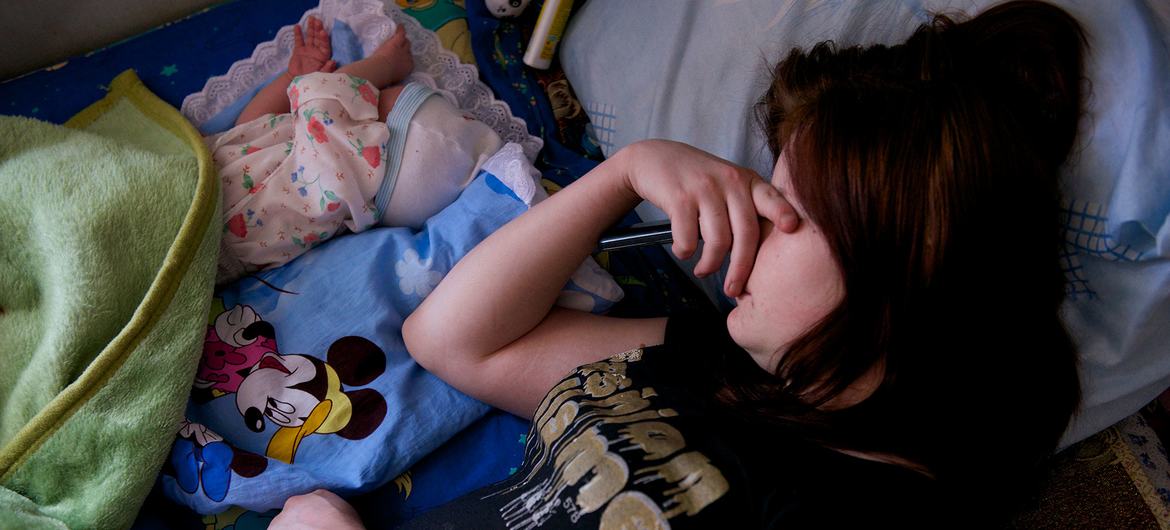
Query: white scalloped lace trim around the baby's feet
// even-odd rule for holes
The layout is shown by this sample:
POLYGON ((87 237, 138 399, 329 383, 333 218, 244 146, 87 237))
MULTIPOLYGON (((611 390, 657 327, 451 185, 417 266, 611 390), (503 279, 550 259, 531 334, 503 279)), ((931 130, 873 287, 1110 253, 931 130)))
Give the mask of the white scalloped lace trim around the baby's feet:
MULTIPOLYGON (((304 26, 310 15, 321 19, 326 28, 332 27, 335 20, 349 25, 362 42, 363 56, 385 41, 397 25, 402 25, 414 55, 414 71, 408 81, 431 87, 454 105, 491 126, 504 142, 519 144, 524 156, 536 160, 544 142, 529 135, 524 121, 512 116, 508 104, 495 98, 491 89, 480 81, 475 66, 462 63, 442 47, 434 32, 404 13, 393 0, 386 4, 377 0, 322 0, 319 6, 305 12, 298 23, 304 26)), ((207 80, 202 90, 183 99, 183 115, 195 126, 201 126, 249 90, 283 71, 292 54, 292 26, 281 28, 273 40, 256 46, 250 57, 233 63, 227 74, 207 80)))

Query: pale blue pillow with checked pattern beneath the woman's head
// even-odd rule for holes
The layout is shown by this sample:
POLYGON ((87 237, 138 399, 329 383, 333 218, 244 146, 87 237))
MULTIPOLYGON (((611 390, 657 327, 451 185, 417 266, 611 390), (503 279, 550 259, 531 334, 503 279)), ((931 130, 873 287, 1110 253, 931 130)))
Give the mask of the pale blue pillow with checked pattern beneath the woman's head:
MULTIPOLYGON (((782 53, 823 40, 894 43, 932 13, 971 14, 991 4, 587 2, 570 21, 560 58, 606 154, 636 139, 670 138, 766 177, 772 160, 751 111, 782 53)), ((1065 171, 1064 310, 1085 378, 1068 445, 1170 386, 1170 9, 1145 0, 1054 4, 1089 39, 1088 109, 1065 171)), ((665 218, 645 204, 638 212, 665 218)), ((697 282, 729 308, 723 278, 697 282)))

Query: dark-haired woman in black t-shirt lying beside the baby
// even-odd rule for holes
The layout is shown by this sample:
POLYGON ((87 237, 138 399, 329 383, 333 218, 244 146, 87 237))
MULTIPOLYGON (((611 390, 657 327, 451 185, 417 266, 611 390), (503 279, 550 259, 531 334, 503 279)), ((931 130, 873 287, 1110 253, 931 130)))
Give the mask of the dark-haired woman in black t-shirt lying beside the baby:
MULTIPOLYGON (((1085 47, 1064 11, 1016 1, 897 46, 792 50, 757 106, 770 181, 648 140, 493 234, 404 335, 532 418, 524 464, 408 525, 1002 524, 1080 398, 1058 174, 1085 47), (642 199, 680 257, 702 235, 696 275, 730 256, 729 315, 553 307, 642 199)), ((360 526, 328 491, 284 508, 273 528, 360 526)))

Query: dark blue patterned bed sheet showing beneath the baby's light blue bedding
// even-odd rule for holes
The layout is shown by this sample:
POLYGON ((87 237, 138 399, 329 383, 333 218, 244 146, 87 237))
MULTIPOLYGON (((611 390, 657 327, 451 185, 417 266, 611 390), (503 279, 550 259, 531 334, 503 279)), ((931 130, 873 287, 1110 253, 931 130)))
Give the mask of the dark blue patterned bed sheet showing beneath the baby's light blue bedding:
MULTIPOLYGON (((522 18, 497 20, 488 14, 482 0, 470 0, 462 26, 457 0, 426 2, 426 7, 417 2, 398 4, 429 29, 435 29, 435 23, 443 25, 455 41, 470 42, 484 82, 516 116, 526 121, 531 133, 545 139, 546 149, 537 167, 548 179, 546 187, 555 191, 567 185, 600 160, 589 122, 559 66, 543 73, 522 67, 521 56, 539 5, 531 6, 522 18)), ((0 113, 62 123, 101 98, 113 74, 126 68, 136 69, 147 87, 179 106, 208 77, 226 71, 235 60, 248 56, 280 27, 295 22, 316 5, 316 0, 249 0, 205 9, 55 67, 0 82, 0 113)), ((447 37, 443 39, 446 43, 447 37)), ((463 51, 461 55, 467 57, 467 50, 463 51)), ((631 215, 622 223, 636 221, 631 215)), ((703 295, 660 248, 612 253, 598 260, 627 290, 615 315, 661 315, 706 303, 703 295)), ((528 422, 522 419, 498 411, 489 413, 404 476, 364 496, 378 500, 373 504, 366 502, 367 507, 379 507, 372 514, 373 519, 405 519, 475 487, 502 480, 521 461, 526 429, 528 422), (476 473, 464 473, 473 467, 476 473)), ((136 528, 230 524, 263 528, 271 515, 235 510, 200 518, 161 495, 152 495, 136 528)))

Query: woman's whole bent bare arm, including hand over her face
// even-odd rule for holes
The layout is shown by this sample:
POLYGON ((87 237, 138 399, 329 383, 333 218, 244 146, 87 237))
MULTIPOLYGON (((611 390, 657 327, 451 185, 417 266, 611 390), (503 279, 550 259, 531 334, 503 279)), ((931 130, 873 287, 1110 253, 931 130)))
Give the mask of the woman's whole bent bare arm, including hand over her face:
POLYGON ((702 233, 697 274, 715 271, 730 253, 730 296, 751 271, 758 216, 789 232, 797 223, 787 201, 750 170, 673 142, 633 144, 468 253, 406 319, 407 350, 460 391, 530 417, 569 370, 661 343, 665 318, 553 308, 601 232, 642 198, 670 216, 680 257, 702 233))

